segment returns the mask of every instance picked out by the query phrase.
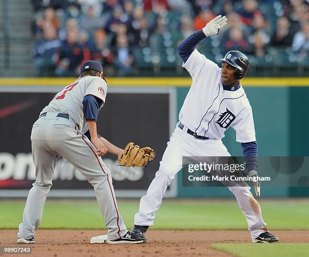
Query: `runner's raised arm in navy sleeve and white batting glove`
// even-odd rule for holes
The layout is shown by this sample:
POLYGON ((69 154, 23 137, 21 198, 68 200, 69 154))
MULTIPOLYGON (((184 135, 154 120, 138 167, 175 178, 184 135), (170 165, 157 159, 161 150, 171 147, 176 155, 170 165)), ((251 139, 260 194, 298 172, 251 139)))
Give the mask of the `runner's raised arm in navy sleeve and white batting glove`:
POLYGON ((227 18, 221 15, 211 20, 203 29, 194 32, 184 39, 178 46, 179 56, 185 63, 192 54, 198 43, 210 35, 216 35, 219 30, 227 25, 227 18))

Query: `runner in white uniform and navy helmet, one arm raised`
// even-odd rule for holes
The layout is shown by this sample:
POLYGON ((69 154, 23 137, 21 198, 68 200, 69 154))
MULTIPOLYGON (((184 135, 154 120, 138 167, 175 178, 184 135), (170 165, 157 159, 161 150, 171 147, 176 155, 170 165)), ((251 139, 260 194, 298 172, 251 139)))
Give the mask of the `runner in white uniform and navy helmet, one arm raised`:
MULTIPOLYGON (((248 58, 239 51, 230 51, 222 60, 222 68, 196 50, 197 44, 216 35, 227 25, 227 18, 219 15, 203 29, 194 32, 178 46, 183 67, 192 77, 191 88, 179 113, 179 122, 167 143, 156 177, 147 194, 140 200, 131 232, 143 235, 153 226, 155 212, 174 176, 182 168, 183 156, 230 156, 221 139, 228 127, 236 131, 241 143, 248 176, 257 176, 258 145, 255 140, 251 106, 239 80, 248 70, 248 58)), ((254 183, 256 196, 260 186, 254 183)), ((276 242, 262 218, 261 207, 250 187, 228 187, 235 195, 251 233, 252 242, 276 242)))

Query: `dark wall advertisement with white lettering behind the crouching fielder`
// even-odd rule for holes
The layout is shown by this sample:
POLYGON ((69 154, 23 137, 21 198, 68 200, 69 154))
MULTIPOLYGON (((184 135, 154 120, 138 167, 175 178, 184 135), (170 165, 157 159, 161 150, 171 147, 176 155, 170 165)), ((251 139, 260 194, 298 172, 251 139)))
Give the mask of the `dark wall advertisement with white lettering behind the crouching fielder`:
MULTIPOLYGON (((31 128, 42 108, 54 96, 54 92, 0 93, 0 133, 3 136, 0 144, 0 197, 23 197, 31 188, 35 180, 31 128)), ((98 115, 98 133, 121 148, 134 142, 141 147, 152 147, 157 155, 155 160, 141 168, 117 166, 116 156, 103 156, 111 169, 116 195, 140 197, 155 177, 170 136, 170 99, 166 92, 108 94, 98 115)), ((84 176, 65 159, 59 158, 50 196, 92 197, 94 193, 84 176)))

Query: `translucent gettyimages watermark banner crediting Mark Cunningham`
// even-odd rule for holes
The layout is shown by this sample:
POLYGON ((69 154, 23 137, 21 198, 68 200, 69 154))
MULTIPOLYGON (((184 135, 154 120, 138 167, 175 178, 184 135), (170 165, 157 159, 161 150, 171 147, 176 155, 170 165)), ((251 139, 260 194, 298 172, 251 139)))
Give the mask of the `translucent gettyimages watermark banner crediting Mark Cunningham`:
POLYGON ((309 187, 308 170, 307 156, 259 157, 258 176, 253 177, 248 176, 244 157, 183 157, 182 184, 185 187, 239 187, 261 181, 263 186, 309 187))

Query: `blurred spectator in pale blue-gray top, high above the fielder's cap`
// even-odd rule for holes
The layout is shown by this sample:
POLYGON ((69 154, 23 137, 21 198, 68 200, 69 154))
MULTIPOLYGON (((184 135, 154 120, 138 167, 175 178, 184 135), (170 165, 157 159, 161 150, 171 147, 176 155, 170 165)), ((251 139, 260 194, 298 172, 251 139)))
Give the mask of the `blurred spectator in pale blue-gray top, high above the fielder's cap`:
POLYGON ((100 16, 95 16, 94 6, 88 6, 87 13, 80 17, 80 26, 92 35, 97 29, 105 27, 105 21, 100 16))

